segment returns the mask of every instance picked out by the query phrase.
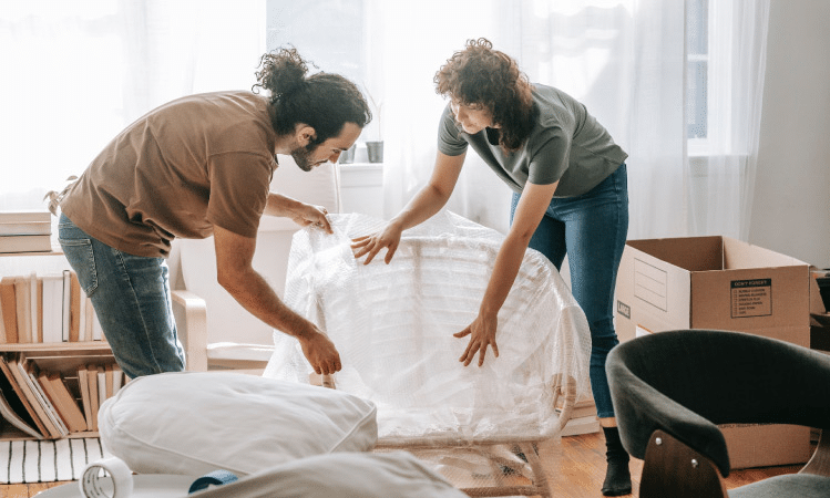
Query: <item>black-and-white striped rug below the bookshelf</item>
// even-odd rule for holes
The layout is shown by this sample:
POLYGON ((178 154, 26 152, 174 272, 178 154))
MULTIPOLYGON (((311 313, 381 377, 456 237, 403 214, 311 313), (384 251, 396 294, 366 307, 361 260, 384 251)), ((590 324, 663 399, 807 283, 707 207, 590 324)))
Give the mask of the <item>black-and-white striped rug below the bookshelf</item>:
POLYGON ((90 461, 109 457, 98 437, 0 442, 0 484, 78 480, 90 461))

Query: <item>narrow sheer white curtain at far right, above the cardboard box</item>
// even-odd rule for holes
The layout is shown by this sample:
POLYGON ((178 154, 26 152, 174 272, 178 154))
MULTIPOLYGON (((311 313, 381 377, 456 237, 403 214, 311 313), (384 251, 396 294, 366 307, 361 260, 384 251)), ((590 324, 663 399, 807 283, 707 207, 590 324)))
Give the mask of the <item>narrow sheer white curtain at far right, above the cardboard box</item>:
POLYGON ((711 0, 708 133, 693 166, 691 231, 749 236, 758 160, 769 0, 711 0))

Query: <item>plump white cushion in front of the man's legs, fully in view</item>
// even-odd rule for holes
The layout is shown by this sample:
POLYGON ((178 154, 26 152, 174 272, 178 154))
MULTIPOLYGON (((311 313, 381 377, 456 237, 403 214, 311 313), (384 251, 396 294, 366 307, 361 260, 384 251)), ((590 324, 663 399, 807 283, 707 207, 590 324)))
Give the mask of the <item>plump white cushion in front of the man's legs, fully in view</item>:
POLYGON ((139 474, 247 475, 314 455, 366 452, 371 402, 342 392, 223 372, 139 377, 99 412, 104 448, 139 474))

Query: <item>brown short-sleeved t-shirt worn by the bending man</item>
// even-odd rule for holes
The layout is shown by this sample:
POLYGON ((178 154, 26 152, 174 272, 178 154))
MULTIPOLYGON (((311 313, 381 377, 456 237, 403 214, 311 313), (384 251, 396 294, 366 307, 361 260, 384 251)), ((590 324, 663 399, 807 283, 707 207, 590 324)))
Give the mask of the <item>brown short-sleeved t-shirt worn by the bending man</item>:
POLYGON ((214 226, 256 237, 275 146, 264 96, 178 98, 116 136, 70 187, 61 210, 90 236, 135 256, 166 257, 175 237, 205 238, 214 226))

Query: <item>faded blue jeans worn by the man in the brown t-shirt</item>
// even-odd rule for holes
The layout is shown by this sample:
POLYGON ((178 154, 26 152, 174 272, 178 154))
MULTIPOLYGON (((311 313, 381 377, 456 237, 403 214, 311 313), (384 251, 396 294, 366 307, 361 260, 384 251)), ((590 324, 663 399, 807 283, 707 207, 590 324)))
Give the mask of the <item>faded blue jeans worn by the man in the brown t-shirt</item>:
POLYGON ((58 239, 90 297, 115 361, 131 378, 184 370, 164 258, 132 256, 61 215, 58 239))

